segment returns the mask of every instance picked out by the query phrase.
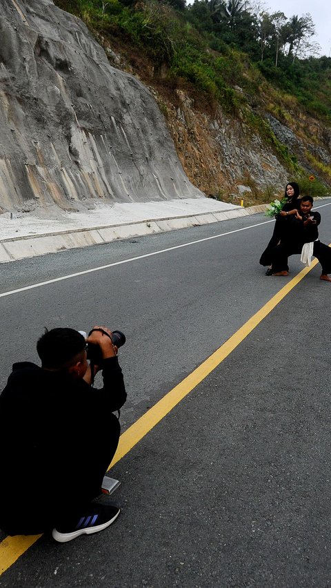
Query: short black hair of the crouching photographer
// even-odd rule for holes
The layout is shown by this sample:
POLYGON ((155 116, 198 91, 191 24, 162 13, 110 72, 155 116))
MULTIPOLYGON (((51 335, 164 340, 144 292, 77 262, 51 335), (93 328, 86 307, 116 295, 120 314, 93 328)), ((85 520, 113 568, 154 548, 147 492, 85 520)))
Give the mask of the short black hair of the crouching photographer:
POLYGON ((48 369, 61 369, 86 348, 86 341, 74 329, 46 329, 37 342, 41 365, 48 369))

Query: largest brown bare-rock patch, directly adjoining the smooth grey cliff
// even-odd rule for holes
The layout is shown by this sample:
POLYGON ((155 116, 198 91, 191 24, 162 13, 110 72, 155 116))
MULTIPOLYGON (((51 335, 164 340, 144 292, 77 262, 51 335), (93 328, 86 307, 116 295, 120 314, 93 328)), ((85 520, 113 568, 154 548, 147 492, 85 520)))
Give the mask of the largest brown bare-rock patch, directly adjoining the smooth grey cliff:
POLYGON ((179 106, 169 104, 169 127, 184 169, 208 195, 237 194, 247 181, 260 190, 286 182, 287 171, 271 149, 238 119, 217 109, 215 115, 194 109, 194 101, 177 90, 179 106))

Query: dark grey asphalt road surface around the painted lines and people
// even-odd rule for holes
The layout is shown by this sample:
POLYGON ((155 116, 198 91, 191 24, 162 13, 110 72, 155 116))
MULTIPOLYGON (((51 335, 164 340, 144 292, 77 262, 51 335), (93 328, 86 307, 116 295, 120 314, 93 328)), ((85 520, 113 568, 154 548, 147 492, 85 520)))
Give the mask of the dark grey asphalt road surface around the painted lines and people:
MULTIPOLYGON (((0 297, 1 388, 12 362, 37 360, 44 326, 108 324, 127 335, 128 429, 301 271, 294 256, 289 277, 265 277, 272 228, 254 215, 3 264, 1 293, 108 267, 0 297)), ((64 545, 43 536, 0 586, 329 586, 331 284, 320 273, 115 464, 114 525, 64 545)))

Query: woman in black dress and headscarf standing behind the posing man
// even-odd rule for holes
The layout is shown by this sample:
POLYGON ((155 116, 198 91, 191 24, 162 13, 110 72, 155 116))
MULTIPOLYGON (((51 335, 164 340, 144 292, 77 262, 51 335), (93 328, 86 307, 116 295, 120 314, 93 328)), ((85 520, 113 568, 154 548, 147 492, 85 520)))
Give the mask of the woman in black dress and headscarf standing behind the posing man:
POLYGON ((261 266, 270 266, 265 272, 265 275, 272 275, 270 253, 272 248, 274 248, 281 240, 283 230, 286 228, 285 223, 288 221, 288 216, 296 215, 297 210, 300 208, 300 188, 297 182, 288 182, 288 184, 286 184, 284 198, 287 202, 285 202, 281 212, 276 217, 274 232, 272 233, 270 242, 260 257, 261 266))

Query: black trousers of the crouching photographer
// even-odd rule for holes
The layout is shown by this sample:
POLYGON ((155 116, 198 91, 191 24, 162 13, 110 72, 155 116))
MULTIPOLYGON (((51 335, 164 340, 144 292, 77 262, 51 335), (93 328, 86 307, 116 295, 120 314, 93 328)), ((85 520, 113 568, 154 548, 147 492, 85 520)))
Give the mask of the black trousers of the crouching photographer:
POLYGON ((13 471, 13 478, 21 482, 21 490, 15 484, 12 491, 0 489, 0 529, 7 535, 37 535, 68 518, 79 517, 81 508, 101 493, 103 476, 117 450, 120 431, 119 420, 111 414, 107 430, 88 440, 88 450, 77 455, 77 462, 72 462, 71 467, 66 464, 61 469, 61 459, 55 465, 48 464, 46 459, 44 472, 37 471, 32 462, 27 464, 27 471, 35 471, 35 477, 20 478, 20 471, 13 471))

